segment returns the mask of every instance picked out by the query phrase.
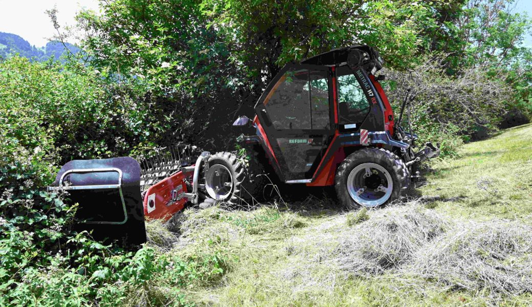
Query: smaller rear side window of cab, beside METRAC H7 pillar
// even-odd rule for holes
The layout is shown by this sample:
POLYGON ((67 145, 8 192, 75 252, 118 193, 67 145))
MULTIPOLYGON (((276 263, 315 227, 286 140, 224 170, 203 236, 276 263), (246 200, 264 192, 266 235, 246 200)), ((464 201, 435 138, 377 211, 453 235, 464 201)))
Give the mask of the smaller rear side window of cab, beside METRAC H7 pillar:
POLYGON ((351 71, 338 73, 338 121, 345 128, 358 128, 369 113, 367 97, 351 71))

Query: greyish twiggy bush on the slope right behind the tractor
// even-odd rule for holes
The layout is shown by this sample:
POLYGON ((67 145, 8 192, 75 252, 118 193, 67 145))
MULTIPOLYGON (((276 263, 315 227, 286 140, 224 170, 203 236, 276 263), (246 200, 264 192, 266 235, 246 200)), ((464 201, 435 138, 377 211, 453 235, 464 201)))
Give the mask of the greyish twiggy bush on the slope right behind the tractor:
MULTIPOLYGON (((383 71, 387 81, 385 92, 396 116, 411 88, 411 127, 425 142, 439 143, 442 157, 456 155, 464 142, 488 136, 497 131, 509 105, 515 102, 500 78, 488 76, 476 68, 458 71, 449 76, 443 67, 443 58, 430 57, 413 71, 383 71)), ((408 125, 406 108, 402 127, 408 125)), ((397 119, 397 117, 396 117, 397 119)))

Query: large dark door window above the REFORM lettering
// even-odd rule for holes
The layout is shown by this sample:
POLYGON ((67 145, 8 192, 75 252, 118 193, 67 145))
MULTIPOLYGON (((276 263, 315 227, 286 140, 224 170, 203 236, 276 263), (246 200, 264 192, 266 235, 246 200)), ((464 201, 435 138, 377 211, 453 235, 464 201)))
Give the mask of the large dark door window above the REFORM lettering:
POLYGON ((328 86, 325 71, 287 71, 264 99, 273 127, 329 129, 328 86))

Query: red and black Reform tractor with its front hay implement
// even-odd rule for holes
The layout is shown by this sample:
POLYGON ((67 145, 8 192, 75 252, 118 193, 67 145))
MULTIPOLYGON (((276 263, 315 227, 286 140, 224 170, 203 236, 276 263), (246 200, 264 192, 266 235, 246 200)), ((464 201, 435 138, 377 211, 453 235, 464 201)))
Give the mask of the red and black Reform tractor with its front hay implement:
POLYGON ((80 203, 81 228, 129 243, 145 239, 144 217, 169 218, 200 199, 257 196, 265 174, 286 184, 334 185, 347 208, 385 204, 419 177, 416 164, 439 150, 427 143, 414 152, 417 136, 400 126, 408 99, 395 121, 378 82, 384 76, 375 76, 382 65, 375 49, 359 45, 286 65, 256 103, 253 120, 233 124, 254 153, 247 163, 228 152, 203 152, 194 163, 190 147, 177 146, 139 159, 142 170, 129 157, 71 161, 50 189, 69 190, 80 203), (137 235, 126 231, 131 227, 117 230, 128 223, 142 223, 137 235))

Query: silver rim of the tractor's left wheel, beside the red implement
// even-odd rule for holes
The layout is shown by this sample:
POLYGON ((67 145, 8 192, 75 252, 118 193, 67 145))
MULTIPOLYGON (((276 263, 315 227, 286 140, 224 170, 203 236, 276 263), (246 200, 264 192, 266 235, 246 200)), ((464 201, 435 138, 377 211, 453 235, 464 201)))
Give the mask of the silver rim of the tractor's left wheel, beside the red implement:
POLYGON ((217 201, 226 200, 231 196, 233 179, 231 172, 222 164, 212 165, 205 174, 207 194, 217 201))

